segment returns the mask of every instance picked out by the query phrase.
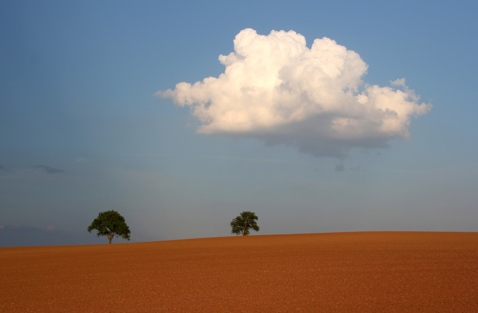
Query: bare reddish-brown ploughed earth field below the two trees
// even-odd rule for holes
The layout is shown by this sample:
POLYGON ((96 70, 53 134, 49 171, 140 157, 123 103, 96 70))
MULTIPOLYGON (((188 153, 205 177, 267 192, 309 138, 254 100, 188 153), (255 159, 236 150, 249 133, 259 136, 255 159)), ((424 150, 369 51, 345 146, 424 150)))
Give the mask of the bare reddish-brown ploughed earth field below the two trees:
POLYGON ((0 248, 0 269, 0 312, 478 312, 476 232, 0 248))

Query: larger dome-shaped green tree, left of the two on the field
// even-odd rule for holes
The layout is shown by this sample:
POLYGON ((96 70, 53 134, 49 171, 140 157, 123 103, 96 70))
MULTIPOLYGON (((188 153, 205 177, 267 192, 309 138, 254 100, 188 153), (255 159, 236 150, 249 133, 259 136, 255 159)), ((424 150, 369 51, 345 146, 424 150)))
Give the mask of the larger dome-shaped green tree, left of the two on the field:
POLYGON ((91 232, 91 230, 98 231, 96 233, 97 237, 107 236, 109 243, 115 236, 130 240, 130 228, 126 225, 124 217, 115 210, 98 213, 98 217, 88 226, 88 232, 91 232))

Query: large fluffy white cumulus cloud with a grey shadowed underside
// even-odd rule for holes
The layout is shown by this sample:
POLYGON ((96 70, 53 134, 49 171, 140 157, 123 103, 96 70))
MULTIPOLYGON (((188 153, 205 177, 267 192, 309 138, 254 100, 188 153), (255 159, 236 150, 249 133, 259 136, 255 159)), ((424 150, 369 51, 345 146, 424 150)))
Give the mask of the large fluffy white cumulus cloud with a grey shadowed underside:
POLYGON ((295 31, 240 31, 234 51, 219 55, 218 78, 178 83, 156 95, 189 106, 203 134, 257 137, 316 156, 344 156, 350 147, 384 147, 409 137, 411 116, 430 111, 404 79, 364 85, 368 65, 326 37, 306 47, 295 31))

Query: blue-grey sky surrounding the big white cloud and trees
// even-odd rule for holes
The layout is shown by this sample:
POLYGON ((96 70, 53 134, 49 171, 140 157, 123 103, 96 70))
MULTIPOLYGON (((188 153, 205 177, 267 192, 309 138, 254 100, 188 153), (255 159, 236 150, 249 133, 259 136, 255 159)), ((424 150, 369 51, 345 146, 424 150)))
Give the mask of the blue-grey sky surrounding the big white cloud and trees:
POLYGON ((0 245, 104 243, 85 233, 109 209, 132 241, 228 236, 243 210, 258 234, 477 231, 477 7, 2 1, 0 245), (433 109, 408 141, 342 158, 198 134, 190 108, 154 94, 224 73, 246 28, 335 40, 368 64, 364 83, 405 78, 433 109), (45 239, 11 236, 33 230, 45 239))

